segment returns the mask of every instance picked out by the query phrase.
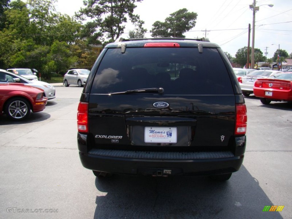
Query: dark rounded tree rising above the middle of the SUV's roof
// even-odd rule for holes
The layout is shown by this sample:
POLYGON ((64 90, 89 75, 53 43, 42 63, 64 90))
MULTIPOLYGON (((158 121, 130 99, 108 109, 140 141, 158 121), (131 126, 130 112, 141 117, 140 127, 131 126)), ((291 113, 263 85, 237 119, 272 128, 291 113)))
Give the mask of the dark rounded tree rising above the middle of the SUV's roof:
POLYGON ((151 29, 152 37, 179 37, 196 25, 197 13, 188 12, 186 8, 175 11, 164 22, 155 21, 151 29))

